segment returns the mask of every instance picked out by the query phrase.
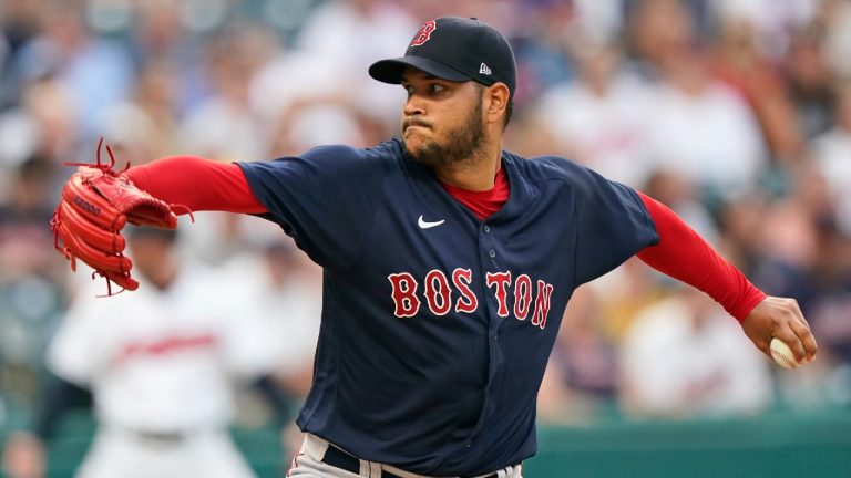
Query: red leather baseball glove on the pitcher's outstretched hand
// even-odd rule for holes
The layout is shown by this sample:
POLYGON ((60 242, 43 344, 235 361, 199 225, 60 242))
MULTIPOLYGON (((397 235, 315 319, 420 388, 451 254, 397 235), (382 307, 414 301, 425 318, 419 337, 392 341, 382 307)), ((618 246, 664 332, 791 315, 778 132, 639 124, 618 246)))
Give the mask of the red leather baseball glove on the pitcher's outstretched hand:
POLYGON ((110 164, 101 163, 102 144, 103 138, 98 143, 96 164, 68 164, 79 168, 65 183, 50 226, 54 246, 71 261, 71 270, 76 270, 76 259, 82 260, 106 279, 111 295, 110 281, 126 290, 139 288, 130 274, 133 263, 123 253, 124 225, 174 229, 177 216, 172 206, 135 187, 123 174, 127 168, 113 169, 115 157, 109 145, 110 164))

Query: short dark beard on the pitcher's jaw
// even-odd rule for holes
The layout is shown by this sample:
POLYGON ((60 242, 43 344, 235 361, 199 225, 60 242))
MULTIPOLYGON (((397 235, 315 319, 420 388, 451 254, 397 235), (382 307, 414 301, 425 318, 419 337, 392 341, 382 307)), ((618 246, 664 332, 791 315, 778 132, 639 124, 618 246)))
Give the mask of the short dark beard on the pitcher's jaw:
MULTIPOLYGON (((418 124, 417 119, 406 119, 403 129, 408 124, 418 124)), ((482 97, 468 113, 460 127, 450 131, 445 135, 445 142, 438 144, 434 141, 423 143, 419 150, 412 152, 404 145, 404 154, 417 163, 444 169, 462 165, 473 158, 473 155, 484 144, 484 124, 482 123, 482 97)))

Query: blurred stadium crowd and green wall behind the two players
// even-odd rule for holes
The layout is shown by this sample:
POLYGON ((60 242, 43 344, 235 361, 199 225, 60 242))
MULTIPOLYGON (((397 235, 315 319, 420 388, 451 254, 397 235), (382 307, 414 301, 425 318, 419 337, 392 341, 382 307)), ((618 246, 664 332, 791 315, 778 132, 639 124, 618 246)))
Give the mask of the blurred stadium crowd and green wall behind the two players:
MULTIPOLYGON (((377 144, 398 133, 403 92, 368 65, 443 14, 512 41, 506 149, 665 202, 796 298, 821 347, 783 371, 711 300, 629 261, 571 301, 525 475, 851 476, 851 1, 0 0, 4 476, 71 476, 95 429, 85 401, 50 403, 44 363, 75 297, 105 292, 53 250, 63 163, 93 162, 100 136, 120 166, 377 144)), ((298 440, 320 295, 320 272, 270 226, 198 214, 180 236, 223 276, 212 294, 254 291, 243 313, 278 320, 286 353, 240 389, 233 422, 269 477, 298 440)))

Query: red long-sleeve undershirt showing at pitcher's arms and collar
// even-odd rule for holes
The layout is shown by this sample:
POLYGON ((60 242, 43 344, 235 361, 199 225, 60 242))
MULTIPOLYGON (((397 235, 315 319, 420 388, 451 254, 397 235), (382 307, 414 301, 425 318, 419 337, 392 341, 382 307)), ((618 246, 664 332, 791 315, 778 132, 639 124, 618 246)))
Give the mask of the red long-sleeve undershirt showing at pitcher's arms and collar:
MULTIPOLYGON (((174 156, 130 168, 127 176, 152 196, 193 211, 267 211, 252 193, 243 170, 233 163, 174 156)), ((504 175, 496 179, 500 184, 494 187, 494 195, 500 197, 495 201, 486 194, 447 190, 484 219, 507 200, 507 179, 504 175)), ((644 194, 639 196, 656 225, 659 243, 639 251, 638 258, 659 272, 704 291, 739 321, 766 298, 674 211, 644 194)))

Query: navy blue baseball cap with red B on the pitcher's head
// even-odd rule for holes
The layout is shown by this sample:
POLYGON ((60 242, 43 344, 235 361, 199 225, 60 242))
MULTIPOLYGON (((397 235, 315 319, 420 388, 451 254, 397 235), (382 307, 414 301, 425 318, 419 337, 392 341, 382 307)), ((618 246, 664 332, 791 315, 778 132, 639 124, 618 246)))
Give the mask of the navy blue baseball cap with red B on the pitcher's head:
POLYGON ((516 67, 509 41, 474 18, 441 17, 426 22, 413 35, 404 56, 373 63, 369 75, 399 84, 406 66, 449 81, 472 80, 485 86, 502 82, 514 96, 516 67))

